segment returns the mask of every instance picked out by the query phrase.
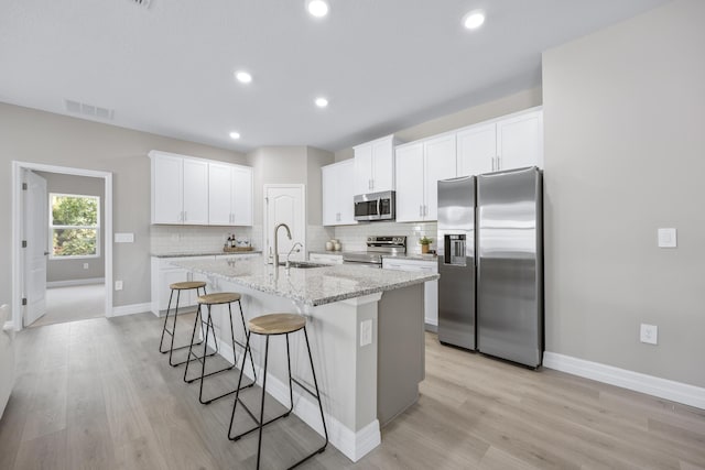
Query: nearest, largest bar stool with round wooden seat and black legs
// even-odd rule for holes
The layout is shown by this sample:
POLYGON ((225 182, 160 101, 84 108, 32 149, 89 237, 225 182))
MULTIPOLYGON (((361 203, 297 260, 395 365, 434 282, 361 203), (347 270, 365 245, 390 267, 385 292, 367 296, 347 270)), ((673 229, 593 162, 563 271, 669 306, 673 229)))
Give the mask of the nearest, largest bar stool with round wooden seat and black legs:
MULTIPOLYGON (((248 352, 250 353, 250 358, 252 356, 252 351, 250 350, 250 335, 251 334, 256 334, 256 335, 262 335, 265 337, 265 342, 264 342, 264 372, 262 373, 262 401, 261 401, 261 405, 260 405, 260 417, 259 419, 257 419, 257 417, 254 416, 254 414, 252 414, 252 412, 247 407, 247 405, 240 400, 240 383, 242 382, 242 370, 240 370, 240 378, 238 380, 238 389, 237 392, 235 394, 235 403, 232 404, 232 415, 230 416, 230 427, 228 428, 228 439, 230 440, 239 440, 242 436, 252 433, 256 429, 259 429, 259 438, 257 441, 257 469, 260 468, 260 456, 262 453, 262 428, 264 426, 267 426, 270 423, 275 422, 276 419, 283 418, 289 416, 289 414, 293 411, 294 408, 294 397, 293 397, 293 391, 292 391, 292 382, 296 383, 296 385, 301 386, 304 391, 308 392, 314 398, 316 398, 318 401, 318 409, 321 411, 321 420, 323 422, 323 431, 325 434, 325 442, 323 444, 323 447, 314 450, 311 455, 304 457, 303 459, 299 460, 296 463, 294 463, 293 466, 290 467, 290 469, 300 466, 301 463, 305 462, 306 460, 308 460, 310 458, 312 458, 313 456, 315 456, 316 453, 322 453, 325 449, 326 446, 328 445, 328 429, 326 428, 326 420, 324 418, 323 415, 323 404, 321 403, 321 393, 318 392, 318 382, 316 380, 316 372, 314 371, 314 367, 313 367, 313 357, 311 356, 311 345, 308 343, 308 334, 306 332, 306 318, 301 316, 301 315, 294 315, 294 314, 270 314, 270 315, 263 315, 261 317, 257 317, 257 318, 252 318, 249 323, 248 323, 250 329, 249 332, 247 334, 247 342, 246 342, 246 347, 245 347, 245 356, 247 358, 248 352), (304 338, 306 339, 306 349, 308 351, 308 361, 311 362, 311 372, 313 373, 313 383, 316 387, 315 393, 312 392, 311 390, 308 390, 306 386, 304 386, 301 382, 299 382, 296 379, 293 379, 291 375, 291 352, 290 352, 290 348, 289 348, 289 335, 291 335, 292 332, 296 332, 299 330, 304 330, 304 338), (288 362, 288 367, 289 367, 289 400, 291 402, 291 406, 289 407, 289 409, 280 415, 276 416, 270 420, 268 420, 267 423, 264 423, 264 395, 265 395, 265 391, 267 391, 267 363, 269 360, 269 338, 271 336, 276 336, 276 335, 285 335, 286 337, 286 362, 288 362), (250 418, 252 418, 252 420, 257 424, 254 427, 252 427, 251 429, 248 429, 243 433, 238 434, 237 436, 232 436, 232 423, 235 422, 235 412, 237 409, 238 406, 238 402, 242 405, 242 407, 245 408, 245 411, 247 412, 247 414, 250 416, 250 418)), ((243 360, 245 362, 245 360, 243 360)))

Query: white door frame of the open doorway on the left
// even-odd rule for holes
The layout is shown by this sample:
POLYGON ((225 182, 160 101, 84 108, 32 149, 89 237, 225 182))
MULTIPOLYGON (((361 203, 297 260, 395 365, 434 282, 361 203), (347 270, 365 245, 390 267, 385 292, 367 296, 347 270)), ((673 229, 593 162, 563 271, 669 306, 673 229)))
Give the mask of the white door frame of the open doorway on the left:
POLYGON ((106 317, 112 316, 112 173, 97 170, 72 168, 66 166, 45 165, 12 161, 12 321, 14 329, 22 329, 24 308, 22 306, 22 292, 24 288, 24 256, 22 253, 22 230, 24 215, 22 214, 22 171, 37 171, 61 173, 74 176, 90 176, 102 178, 105 182, 104 215, 105 223, 100 229, 104 232, 105 255, 105 282, 106 282, 106 317))

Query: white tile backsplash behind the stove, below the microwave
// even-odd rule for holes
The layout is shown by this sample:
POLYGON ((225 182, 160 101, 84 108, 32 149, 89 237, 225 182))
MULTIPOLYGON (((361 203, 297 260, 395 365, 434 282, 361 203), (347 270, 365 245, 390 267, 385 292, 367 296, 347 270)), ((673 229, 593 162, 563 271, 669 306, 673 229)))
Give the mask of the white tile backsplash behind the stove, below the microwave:
POLYGON ((368 236, 405 236, 406 252, 421 253, 419 239, 429 237, 433 240, 431 250, 436 249, 437 223, 416 222, 369 222, 357 226, 340 226, 335 228, 335 238, 340 241, 343 251, 365 251, 368 236))

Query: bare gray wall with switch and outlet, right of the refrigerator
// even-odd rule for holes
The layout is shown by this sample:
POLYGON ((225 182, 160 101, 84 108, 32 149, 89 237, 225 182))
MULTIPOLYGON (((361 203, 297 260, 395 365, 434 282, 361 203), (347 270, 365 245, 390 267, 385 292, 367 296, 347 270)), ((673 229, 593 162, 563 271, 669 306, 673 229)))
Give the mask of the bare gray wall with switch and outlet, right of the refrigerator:
POLYGON ((546 350, 696 386, 703 24, 704 1, 675 1, 543 55, 546 350), (659 227, 677 228, 677 249, 657 248, 659 227))

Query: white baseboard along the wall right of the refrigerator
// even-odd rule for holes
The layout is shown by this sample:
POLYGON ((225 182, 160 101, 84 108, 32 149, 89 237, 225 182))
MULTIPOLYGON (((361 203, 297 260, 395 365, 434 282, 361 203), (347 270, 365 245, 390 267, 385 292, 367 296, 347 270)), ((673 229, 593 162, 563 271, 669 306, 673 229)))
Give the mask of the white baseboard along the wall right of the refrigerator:
POLYGON ((543 365, 556 371, 705 409, 705 389, 699 386, 549 351, 543 353, 543 365))

